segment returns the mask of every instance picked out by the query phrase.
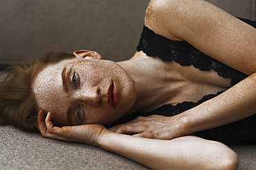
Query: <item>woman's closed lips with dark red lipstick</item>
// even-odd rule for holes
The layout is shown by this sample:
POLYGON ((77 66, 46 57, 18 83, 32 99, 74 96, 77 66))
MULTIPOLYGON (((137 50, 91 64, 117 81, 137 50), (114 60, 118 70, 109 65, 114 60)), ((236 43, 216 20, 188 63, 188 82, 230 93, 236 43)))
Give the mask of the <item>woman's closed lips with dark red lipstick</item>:
POLYGON ((118 89, 116 88, 116 85, 113 83, 113 81, 109 86, 107 95, 108 95, 107 103, 109 104, 110 107, 115 109, 119 103, 119 94, 118 94, 118 89))

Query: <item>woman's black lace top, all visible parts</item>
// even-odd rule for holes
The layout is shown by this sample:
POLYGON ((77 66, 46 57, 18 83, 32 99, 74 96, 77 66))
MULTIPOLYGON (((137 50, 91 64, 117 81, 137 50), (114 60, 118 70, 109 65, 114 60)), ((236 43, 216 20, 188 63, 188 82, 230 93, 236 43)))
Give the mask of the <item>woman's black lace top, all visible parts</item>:
MULTIPOLYGON (((255 21, 250 21, 247 19, 241 19, 250 25, 256 27, 255 21)), ((230 78, 231 85, 239 83, 247 77, 246 74, 243 74, 223 63, 212 59, 210 56, 207 56, 197 50, 195 47, 190 45, 185 41, 172 41, 165 38, 164 36, 155 34, 152 30, 145 27, 143 28, 143 33, 140 38, 140 42, 137 47, 137 51, 143 51, 147 56, 158 56, 163 61, 175 61, 182 66, 194 65, 201 71, 214 70, 219 76, 223 78, 230 78)), ((201 100, 197 103, 193 102, 183 102, 178 105, 163 105, 162 107, 149 111, 147 113, 136 113, 126 115, 123 122, 127 122, 127 118, 134 119, 137 116, 149 116, 152 114, 158 114, 163 116, 174 116, 176 114, 181 114, 181 112, 196 107, 201 103, 214 98, 215 96, 221 94, 210 94, 208 96, 203 96, 201 100)), ((208 138, 211 140, 219 140, 225 143, 239 143, 239 144, 248 144, 256 143, 256 116, 251 116, 244 120, 239 120, 236 123, 231 123, 224 125, 223 127, 217 127, 210 130, 205 130, 196 133, 196 135, 202 136, 203 138, 208 138)))

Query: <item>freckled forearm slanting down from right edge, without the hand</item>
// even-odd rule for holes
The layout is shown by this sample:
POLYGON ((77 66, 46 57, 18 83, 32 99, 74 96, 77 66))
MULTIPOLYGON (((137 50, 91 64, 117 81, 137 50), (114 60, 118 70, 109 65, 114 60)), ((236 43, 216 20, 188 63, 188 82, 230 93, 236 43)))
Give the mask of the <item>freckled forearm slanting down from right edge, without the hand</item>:
POLYGON ((256 74, 252 74, 219 96, 178 115, 185 134, 219 127, 255 114, 255 85, 256 74))

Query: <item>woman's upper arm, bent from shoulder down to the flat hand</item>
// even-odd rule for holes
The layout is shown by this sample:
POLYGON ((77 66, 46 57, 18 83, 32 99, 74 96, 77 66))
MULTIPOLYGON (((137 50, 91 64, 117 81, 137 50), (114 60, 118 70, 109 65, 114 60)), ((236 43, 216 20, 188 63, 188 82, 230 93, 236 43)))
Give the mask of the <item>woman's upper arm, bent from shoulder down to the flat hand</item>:
POLYGON ((201 52, 250 76, 216 98, 177 116, 140 117, 111 130, 171 139, 255 114, 255 28, 201 0, 151 1, 145 25, 169 39, 188 41, 201 52), (150 123, 152 120, 155 124, 150 123))

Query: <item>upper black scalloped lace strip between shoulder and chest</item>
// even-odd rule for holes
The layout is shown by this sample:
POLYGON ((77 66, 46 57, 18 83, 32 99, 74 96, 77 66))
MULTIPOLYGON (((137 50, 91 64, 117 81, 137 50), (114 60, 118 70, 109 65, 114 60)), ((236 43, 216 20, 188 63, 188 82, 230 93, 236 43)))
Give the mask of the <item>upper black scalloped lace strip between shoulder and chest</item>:
POLYGON ((158 56, 163 61, 175 61, 182 66, 194 65, 201 71, 213 69, 219 76, 230 78, 231 85, 235 85, 247 77, 246 74, 203 54, 190 43, 172 41, 164 36, 155 34, 145 26, 137 47, 137 51, 141 50, 148 56, 158 56))

